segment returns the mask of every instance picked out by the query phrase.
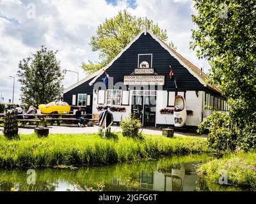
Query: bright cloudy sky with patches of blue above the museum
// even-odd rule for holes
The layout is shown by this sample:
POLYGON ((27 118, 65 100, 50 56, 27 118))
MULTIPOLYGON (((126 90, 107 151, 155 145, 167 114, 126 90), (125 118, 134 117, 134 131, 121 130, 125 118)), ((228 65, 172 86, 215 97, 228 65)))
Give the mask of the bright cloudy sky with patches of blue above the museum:
MULTIPOLYGON (((12 99, 13 79, 9 76, 17 77, 19 61, 41 45, 58 50, 61 68, 79 71, 79 78, 84 78, 81 62, 98 59, 98 53, 88 45, 97 25, 124 9, 154 20, 167 30, 180 54, 199 68, 209 68, 189 50, 191 28, 195 26, 191 0, 0 0, 0 94, 4 102, 12 99)), ((76 73, 69 72, 63 84, 68 87, 76 81, 76 73)), ((16 78, 14 102, 19 98, 16 78)))

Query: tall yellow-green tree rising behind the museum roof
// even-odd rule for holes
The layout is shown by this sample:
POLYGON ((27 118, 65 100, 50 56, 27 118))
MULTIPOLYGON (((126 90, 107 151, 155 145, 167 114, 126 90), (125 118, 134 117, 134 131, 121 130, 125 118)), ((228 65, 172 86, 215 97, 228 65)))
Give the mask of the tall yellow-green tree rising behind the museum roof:
MULTIPOLYGON (((82 63, 82 68, 86 73, 93 73, 111 62, 138 34, 145 28, 145 20, 141 17, 132 16, 126 10, 119 11, 118 15, 106 19, 104 24, 100 24, 97 35, 92 36, 90 45, 93 51, 99 51, 100 62, 87 64, 82 63)), ((147 20, 147 29, 151 30, 157 38, 168 43, 166 30, 161 29, 152 20, 147 20)), ((172 43, 168 45, 176 49, 172 43)))

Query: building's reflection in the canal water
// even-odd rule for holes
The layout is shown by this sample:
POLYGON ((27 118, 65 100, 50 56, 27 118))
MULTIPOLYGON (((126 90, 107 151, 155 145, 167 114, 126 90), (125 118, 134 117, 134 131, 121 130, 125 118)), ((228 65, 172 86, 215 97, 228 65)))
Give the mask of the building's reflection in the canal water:
POLYGON ((200 162, 170 164, 170 166, 164 168, 157 168, 155 171, 141 170, 138 173, 138 178, 130 186, 127 185, 127 182, 123 182, 122 178, 115 177, 112 179, 112 187, 109 185, 109 189, 123 189, 124 191, 195 191, 195 183, 198 179, 195 166, 198 163, 200 162))

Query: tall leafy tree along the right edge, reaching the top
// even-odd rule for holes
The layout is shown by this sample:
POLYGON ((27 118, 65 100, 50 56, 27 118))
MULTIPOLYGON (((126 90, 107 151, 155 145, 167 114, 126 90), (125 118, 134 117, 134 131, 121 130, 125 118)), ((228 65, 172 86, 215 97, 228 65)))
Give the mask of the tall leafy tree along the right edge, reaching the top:
POLYGON ((256 145, 256 1, 194 1, 198 13, 192 17, 197 28, 192 31, 191 48, 199 58, 210 62, 209 81, 220 85, 228 98, 230 133, 238 136, 237 140, 243 142, 241 146, 253 147, 256 145))

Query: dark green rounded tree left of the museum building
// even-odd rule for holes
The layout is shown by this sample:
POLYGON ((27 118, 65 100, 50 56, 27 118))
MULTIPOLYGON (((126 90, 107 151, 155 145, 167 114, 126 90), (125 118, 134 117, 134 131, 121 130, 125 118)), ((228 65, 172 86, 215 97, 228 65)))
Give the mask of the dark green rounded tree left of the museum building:
POLYGON ((17 75, 22 85, 22 103, 38 106, 61 98, 64 71, 56 53, 42 46, 32 57, 20 61, 17 75))

